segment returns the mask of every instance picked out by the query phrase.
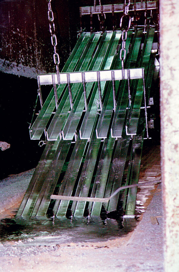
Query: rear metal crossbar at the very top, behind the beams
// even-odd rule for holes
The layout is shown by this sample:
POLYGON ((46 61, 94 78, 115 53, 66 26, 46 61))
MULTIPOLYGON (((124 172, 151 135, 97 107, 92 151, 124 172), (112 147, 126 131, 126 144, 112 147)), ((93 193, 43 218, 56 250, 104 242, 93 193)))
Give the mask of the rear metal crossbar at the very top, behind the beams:
MULTIPOLYGON (((157 1, 147 1, 147 10, 156 9, 157 8, 157 1)), ((114 5, 103 5, 103 13, 112 13, 112 10, 114 10, 114 13, 123 13, 124 12, 124 6, 123 4, 114 4, 114 5), (112 7, 113 6, 113 7, 112 7)), ((81 9, 81 15, 90 15, 92 14, 100 14, 101 13, 101 6, 91 6, 91 7, 80 7, 81 9)), ((146 2, 141 1, 136 3, 136 11, 139 10, 146 10, 146 2)), ((135 11, 134 10, 134 3, 130 4, 129 11, 135 11)))

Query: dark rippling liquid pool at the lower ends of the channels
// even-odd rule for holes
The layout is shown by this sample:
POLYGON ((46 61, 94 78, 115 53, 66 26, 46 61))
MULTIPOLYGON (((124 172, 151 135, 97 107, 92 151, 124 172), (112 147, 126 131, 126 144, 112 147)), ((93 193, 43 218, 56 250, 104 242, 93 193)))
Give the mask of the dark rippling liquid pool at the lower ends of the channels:
MULTIPOLYGON (((118 238, 134 230, 138 218, 84 217, 0 220, 0 242, 15 241, 23 246, 100 242, 118 238)), ((113 216, 113 215, 112 215, 113 216)))

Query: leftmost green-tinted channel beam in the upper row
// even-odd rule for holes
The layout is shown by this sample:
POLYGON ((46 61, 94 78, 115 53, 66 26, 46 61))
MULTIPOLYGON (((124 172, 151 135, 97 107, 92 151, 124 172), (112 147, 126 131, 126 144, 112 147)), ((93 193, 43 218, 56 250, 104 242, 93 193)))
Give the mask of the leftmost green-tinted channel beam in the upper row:
MULTIPOLYGON (((72 72, 75 69, 76 63, 78 63, 81 54, 90 38, 90 33, 83 33, 78 40, 75 48, 72 51, 69 59, 67 60, 66 65, 64 66, 62 72, 72 72)), ((57 84, 55 82, 55 84, 57 84)), ((58 98, 64 91, 65 85, 59 85, 57 88, 57 95, 58 98)), ((32 140, 40 139, 42 133, 44 132, 44 128, 46 127, 51 114, 55 109, 55 98, 54 98, 54 91, 50 92, 47 100, 45 101, 40 113, 38 114, 35 122, 33 123, 32 127, 30 128, 30 138, 32 140)))

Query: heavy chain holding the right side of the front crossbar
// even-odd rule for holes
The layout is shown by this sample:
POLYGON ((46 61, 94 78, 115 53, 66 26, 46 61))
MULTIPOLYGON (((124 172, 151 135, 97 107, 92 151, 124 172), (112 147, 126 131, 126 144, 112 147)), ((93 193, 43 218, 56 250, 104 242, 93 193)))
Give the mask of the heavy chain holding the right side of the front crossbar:
POLYGON ((124 60, 126 58, 126 39, 127 39, 127 31, 130 28, 131 25, 131 16, 128 14, 129 13, 129 5, 130 5, 130 0, 124 0, 124 14, 121 17, 120 21, 120 28, 122 30, 122 46, 120 50, 120 60, 121 60, 121 65, 122 65, 122 76, 124 78, 124 60))

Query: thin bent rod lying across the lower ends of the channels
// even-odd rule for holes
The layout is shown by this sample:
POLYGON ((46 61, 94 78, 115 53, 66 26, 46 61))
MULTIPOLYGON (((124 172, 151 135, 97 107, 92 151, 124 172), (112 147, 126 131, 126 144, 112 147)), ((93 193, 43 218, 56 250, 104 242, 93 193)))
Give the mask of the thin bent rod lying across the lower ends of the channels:
POLYGON ((89 202, 104 202, 107 203, 112 197, 114 197, 116 194, 118 194, 118 192, 120 192, 121 190, 124 189, 128 189, 128 188, 132 188, 132 187, 143 187, 143 186, 147 186, 149 184, 154 185, 157 183, 161 183, 160 180, 153 182, 153 181, 148 181, 148 182, 144 182, 144 183, 136 183, 136 184, 131 184, 131 185, 127 185, 127 186, 122 186, 120 188, 118 188, 110 197, 105 197, 105 198, 98 198, 98 197, 73 197, 73 196, 68 196, 68 195, 55 195, 52 194, 50 196, 50 199, 59 199, 59 200, 76 200, 76 201, 89 201, 89 202))

